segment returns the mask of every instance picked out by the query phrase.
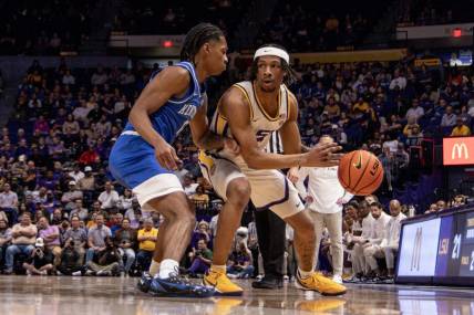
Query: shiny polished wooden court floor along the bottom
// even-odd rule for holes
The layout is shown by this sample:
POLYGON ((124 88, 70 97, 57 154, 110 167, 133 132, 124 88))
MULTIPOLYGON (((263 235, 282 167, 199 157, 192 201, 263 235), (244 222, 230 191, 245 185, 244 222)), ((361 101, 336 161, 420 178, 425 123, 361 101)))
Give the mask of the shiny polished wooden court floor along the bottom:
POLYGON ((253 290, 243 297, 156 298, 135 290, 128 277, 0 276, 0 314, 21 315, 262 315, 262 314, 474 314, 472 290, 351 285, 342 297, 281 290, 253 290))

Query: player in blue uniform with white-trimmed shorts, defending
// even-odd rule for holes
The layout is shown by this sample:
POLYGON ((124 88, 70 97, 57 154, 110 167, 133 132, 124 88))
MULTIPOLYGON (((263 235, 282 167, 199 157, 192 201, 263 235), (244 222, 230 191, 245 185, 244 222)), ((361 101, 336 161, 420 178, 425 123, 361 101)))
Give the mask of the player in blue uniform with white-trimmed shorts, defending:
POLYGON ((150 275, 145 273, 138 282, 138 288, 155 295, 203 297, 214 293, 212 287, 193 285, 178 276, 178 262, 189 244, 195 213, 173 174, 178 157, 171 144, 189 123, 199 148, 238 149, 235 141, 209 133, 206 117, 203 83, 225 71, 226 53, 227 42, 217 27, 194 27, 184 41, 182 62, 152 75, 110 155, 112 175, 133 189, 142 210, 165 217, 150 275))

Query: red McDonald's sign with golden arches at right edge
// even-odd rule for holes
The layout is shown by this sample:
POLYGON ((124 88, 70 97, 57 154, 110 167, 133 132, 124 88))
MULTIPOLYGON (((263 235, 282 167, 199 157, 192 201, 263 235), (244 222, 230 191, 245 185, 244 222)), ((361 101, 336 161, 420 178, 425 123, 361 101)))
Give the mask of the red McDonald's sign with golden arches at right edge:
POLYGON ((444 138, 443 139, 444 165, 473 165, 474 164, 474 137, 444 138))

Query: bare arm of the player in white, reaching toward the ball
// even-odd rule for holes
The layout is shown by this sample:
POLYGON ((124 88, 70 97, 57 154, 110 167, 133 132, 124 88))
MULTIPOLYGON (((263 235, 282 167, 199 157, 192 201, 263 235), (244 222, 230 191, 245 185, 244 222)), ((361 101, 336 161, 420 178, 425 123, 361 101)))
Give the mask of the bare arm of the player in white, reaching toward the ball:
MULTIPOLYGON (((282 169, 296 166, 318 166, 328 167, 339 164, 340 156, 334 154, 340 148, 337 144, 316 147, 306 154, 292 154, 291 150, 300 151, 301 141, 292 139, 298 146, 298 149, 288 147, 288 136, 285 140, 287 147, 286 155, 268 154, 258 148, 258 143, 255 133, 250 125, 250 108, 243 94, 237 88, 230 88, 223 96, 221 113, 229 118, 230 130, 240 146, 241 156, 250 168, 254 169, 282 169), (230 115, 231 114, 231 115, 230 115)), ((295 115, 297 115, 296 111, 295 115)), ((292 134, 295 130, 296 119, 291 120, 282 130, 287 134, 292 134)), ((296 125, 296 128, 297 125, 296 125)), ((298 130, 298 129, 297 129, 298 130)), ((299 135, 298 135, 299 139, 299 135)), ((284 143, 285 147, 285 143, 284 143)))

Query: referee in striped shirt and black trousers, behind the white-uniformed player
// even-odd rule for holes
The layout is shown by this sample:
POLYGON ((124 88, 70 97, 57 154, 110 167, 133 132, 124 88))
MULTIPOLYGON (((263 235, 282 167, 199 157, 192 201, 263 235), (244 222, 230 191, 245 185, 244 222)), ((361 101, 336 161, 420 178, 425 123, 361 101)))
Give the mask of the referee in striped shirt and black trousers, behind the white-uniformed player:
MULTIPOLYGON (((284 153, 278 130, 271 134, 266 150, 272 154, 284 153)), ((253 204, 249 206, 254 207, 253 204)), ((254 213, 265 276, 260 281, 253 282, 251 286, 255 288, 279 288, 282 286, 284 280, 286 222, 270 209, 255 211, 254 213)), ((254 264, 258 265, 258 259, 254 264)))

